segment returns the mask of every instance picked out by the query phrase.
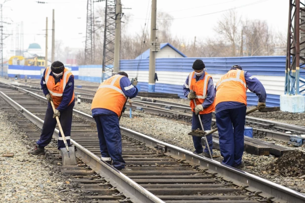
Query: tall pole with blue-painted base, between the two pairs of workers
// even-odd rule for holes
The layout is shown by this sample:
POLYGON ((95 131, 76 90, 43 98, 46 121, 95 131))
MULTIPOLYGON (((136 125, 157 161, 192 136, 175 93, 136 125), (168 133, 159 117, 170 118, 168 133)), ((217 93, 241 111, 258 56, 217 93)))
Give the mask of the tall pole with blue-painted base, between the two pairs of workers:
POLYGON ((152 0, 152 19, 151 19, 151 49, 150 49, 150 68, 148 80, 148 92, 154 92, 154 73, 155 73, 155 50, 152 47, 156 45, 156 13, 157 13, 157 0, 152 0))

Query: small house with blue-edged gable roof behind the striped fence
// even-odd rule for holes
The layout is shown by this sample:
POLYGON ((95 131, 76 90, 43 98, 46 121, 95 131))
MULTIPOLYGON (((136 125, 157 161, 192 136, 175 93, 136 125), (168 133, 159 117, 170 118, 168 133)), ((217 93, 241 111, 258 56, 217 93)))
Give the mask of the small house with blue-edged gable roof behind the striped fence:
MULTIPOLYGON (((160 51, 157 52, 156 58, 184 58, 187 57, 177 48, 175 48, 170 43, 161 43, 160 44, 160 51)), ((150 58, 150 49, 143 52, 139 55, 136 59, 149 59, 150 58)))

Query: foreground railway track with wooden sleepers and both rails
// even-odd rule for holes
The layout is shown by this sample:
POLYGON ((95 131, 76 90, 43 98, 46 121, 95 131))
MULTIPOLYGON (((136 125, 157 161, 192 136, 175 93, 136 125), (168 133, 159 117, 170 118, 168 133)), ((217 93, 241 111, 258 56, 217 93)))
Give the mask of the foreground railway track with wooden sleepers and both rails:
MULTIPOLYGON (((3 101, 13 105, 41 128, 41 119, 44 118, 46 109, 44 97, 20 88, 18 91, 3 88, 0 90, 3 101)), ((93 200, 102 201, 102 198, 107 196, 102 195, 103 192, 108 192, 109 196, 109 190, 112 189, 114 195, 111 197, 119 198, 111 201, 117 202, 305 202, 303 194, 247 172, 227 167, 215 160, 194 155, 190 151, 126 128, 121 128, 121 132, 123 157, 128 167, 133 169, 124 171, 128 177, 99 160, 94 120, 90 115, 74 110, 72 142, 76 147, 77 156, 86 163, 86 167, 95 171, 95 177, 92 178, 93 182, 78 175, 73 181, 87 183, 84 187, 95 194, 94 197, 90 197, 93 200), (110 189, 105 189, 105 186, 110 189)), ((37 139, 39 133, 34 134, 30 131, 29 136, 37 139)), ((78 167, 65 170, 67 174, 77 174, 78 167)))

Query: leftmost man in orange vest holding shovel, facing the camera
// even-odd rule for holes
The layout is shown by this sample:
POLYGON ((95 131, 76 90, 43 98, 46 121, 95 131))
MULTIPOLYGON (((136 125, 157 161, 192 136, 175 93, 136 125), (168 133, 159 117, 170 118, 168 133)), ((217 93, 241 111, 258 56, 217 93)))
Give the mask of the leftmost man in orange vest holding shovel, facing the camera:
MULTIPOLYGON (((48 100, 48 107, 46 109, 40 138, 36 142, 37 145, 33 151, 28 152, 28 154, 34 155, 45 154, 44 147, 51 142, 56 127, 56 116, 59 117, 67 143, 70 146, 72 113, 75 104, 74 75, 60 61, 55 61, 51 67, 45 68, 40 85, 43 94, 48 100), (56 108, 55 112, 50 101, 54 103, 56 108)), ((57 143, 58 149, 65 148, 65 143, 60 133, 57 143)))

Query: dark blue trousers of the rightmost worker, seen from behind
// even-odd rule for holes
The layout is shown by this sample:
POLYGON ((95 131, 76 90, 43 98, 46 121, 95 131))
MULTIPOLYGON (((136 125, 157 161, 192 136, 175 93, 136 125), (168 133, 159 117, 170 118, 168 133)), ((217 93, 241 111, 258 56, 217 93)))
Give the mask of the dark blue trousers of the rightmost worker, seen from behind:
POLYGON ((222 110, 216 113, 223 164, 239 166, 244 152, 246 106, 222 110))

